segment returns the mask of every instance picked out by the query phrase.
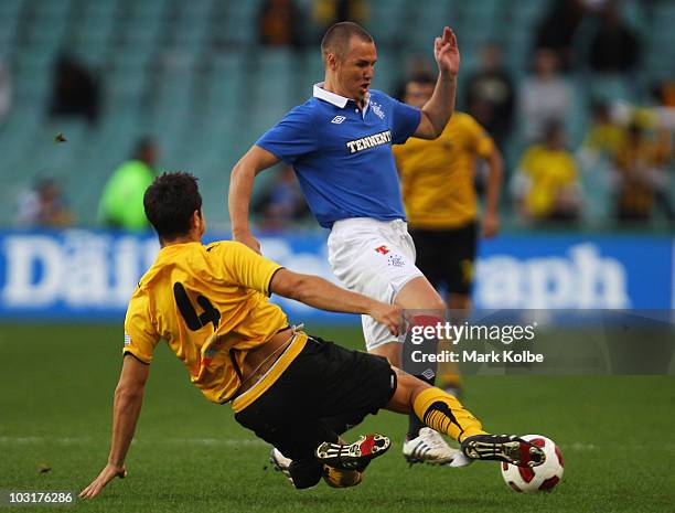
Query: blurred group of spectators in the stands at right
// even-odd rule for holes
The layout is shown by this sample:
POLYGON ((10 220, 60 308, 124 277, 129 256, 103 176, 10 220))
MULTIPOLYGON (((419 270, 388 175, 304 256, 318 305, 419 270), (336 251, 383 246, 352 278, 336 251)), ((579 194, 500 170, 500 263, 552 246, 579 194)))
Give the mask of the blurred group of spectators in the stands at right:
MULTIPOLYGON (((570 76, 611 83, 631 77, 639 64, 640 38, 618 7, 613 0, 553 2, 535 28, 524 79, 516 84, 500 46, 488 44, 459 92, 459 107, 499 148, 515 151, 503 194, 522 224, 582 223, 598 196, 610 199, 606 222, 675 223, 675 77, 651 84, 647 105, 591 92, 587 132, 576 147, 568 142, 575 100, 570 76)), ((415 62, 408 75, 419 66, 415 62)))

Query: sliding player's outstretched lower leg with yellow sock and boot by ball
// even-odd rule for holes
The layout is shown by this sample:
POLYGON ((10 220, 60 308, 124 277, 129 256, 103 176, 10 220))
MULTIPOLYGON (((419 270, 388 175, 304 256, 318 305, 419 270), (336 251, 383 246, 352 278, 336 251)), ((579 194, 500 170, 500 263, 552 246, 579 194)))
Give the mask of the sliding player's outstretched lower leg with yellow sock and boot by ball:
MULTIPOLYGON (((544 451, 513 435, 490 435, 462 404, 450 394, 396 370, 398 386, 387 409, 414 412, 429 427, 448 435, 462 446, 463 459, 503 461, 518 467, 542 464, 544 451)), ((453 462, 461 466, 462 462, 453 462)))

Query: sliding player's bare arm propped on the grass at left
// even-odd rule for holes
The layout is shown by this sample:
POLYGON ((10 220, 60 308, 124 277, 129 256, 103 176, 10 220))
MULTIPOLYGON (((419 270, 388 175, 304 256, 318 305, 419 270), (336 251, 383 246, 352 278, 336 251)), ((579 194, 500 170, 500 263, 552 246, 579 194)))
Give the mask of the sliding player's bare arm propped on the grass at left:
POLYGON ((98 477, 85 488, 79 496, 93 499, 115 478, 126 478, 125 458, 133 438, 136 423, 143 402, 143 389, 150 366, 133 356, 126 356, 122 363, 119 383, 115 389, 113 408, 113 442, 108 463, 98 477))

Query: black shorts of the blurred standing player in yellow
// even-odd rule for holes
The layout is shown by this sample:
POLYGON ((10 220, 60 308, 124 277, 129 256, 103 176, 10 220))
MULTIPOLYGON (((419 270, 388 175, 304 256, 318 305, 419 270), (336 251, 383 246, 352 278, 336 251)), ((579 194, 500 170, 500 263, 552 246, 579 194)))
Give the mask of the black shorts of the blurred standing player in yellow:
POLYGON ((410 229, 417 259, 415 265, 436 289, 469 296, 473 285, 473 261, 478 226, 471 223, 453 229, 410 229))

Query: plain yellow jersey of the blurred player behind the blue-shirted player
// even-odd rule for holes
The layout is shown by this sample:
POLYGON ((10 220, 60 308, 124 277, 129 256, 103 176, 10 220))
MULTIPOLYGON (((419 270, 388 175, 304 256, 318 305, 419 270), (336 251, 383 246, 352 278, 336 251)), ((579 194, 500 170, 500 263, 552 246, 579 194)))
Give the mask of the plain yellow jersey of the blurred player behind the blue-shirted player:
POLYGON ((492 138, 464 113, 454 113, 436 140, 410 138, 395 146, 410 227, 444 229, 472 223, 478 211, 475 159, 488 159, 493 151, 492 138))

